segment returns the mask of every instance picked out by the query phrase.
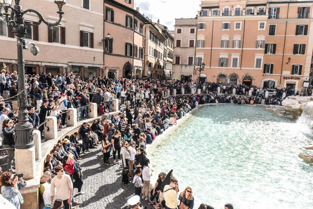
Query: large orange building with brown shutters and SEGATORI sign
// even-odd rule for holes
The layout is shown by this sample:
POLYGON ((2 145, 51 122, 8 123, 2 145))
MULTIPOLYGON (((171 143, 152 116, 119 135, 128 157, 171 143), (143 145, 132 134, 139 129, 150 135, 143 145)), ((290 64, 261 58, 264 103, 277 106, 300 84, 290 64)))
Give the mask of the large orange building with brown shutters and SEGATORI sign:
POLYGON ((204 0, 200 6, 195 63, 206 64, 207 81, 295 91, 309 81, 312 1, 204 0))

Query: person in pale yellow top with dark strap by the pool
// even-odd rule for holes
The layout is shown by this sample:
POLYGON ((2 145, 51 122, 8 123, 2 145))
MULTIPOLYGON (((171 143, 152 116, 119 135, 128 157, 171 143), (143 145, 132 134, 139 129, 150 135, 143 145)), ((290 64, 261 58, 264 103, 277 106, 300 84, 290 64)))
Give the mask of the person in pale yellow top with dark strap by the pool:
POLYGON ((165 185, 163 192, 165 209, 176 209, 179 204, 179 200, 177 199, 178 181, 172 176, 170 177, 169 182, 169 185, 165 185))

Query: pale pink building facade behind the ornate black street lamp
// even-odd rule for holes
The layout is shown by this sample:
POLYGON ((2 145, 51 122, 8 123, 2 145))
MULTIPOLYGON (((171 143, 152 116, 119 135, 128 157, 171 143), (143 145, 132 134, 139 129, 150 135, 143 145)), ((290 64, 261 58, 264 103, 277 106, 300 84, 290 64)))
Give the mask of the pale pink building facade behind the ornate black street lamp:
MULTIPOLYGON (((40 11, 49 22, 59 19, 58 7, 53 1, 21 1, 21 5, 24 9, 40 11)), ((103 47, 97 43, 103 37, 102 7, 103 2, 97 0, 68 0, 63 6, 61 25, 55 26, 53 30, 43 23, 39 26, 29 25, 25 39, 36 44, 40 52, 33 56, 30 51, 24 50, 25 72, 51 72, 56 75, 73 71, 84 78, 101 74, 103 47)), ((33 23, 38 22, 39 18, 33 13, 26 13, 24 20, 33 23)), ((0 46, 0 68, 3 68, 4 63, 6 70, 17 70, 16 38, 2 21, 0 46)))

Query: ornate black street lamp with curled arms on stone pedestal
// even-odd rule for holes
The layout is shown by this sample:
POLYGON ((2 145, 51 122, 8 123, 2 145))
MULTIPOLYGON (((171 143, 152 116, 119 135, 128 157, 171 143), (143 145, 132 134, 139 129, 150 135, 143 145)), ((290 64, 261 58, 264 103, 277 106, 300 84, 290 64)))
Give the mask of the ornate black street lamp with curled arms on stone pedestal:
MULTIPOLYGON (((15 0, 15 5, 12 7, 12 0, 0 0, 0 18, 2 17, 6 22, 6 25, 12 28, 12 32, 17 37, 17 70, 18 70, 18 124, 15 126, 16 131, 16 143, 15 148, 17 149, 28 149, 34 146, 33 142, 33 126, 28 121, 28 111, 26 110, 28 106, 27 94, 25 91, 25 63, 23 49, 28 49, 28 42, 24 39, 25 34, 27 33, 27 26, 33 25, 37 26, 41 22, 45 23, 50 29, 53 29, 53 26, 60 25, 62 15, 62 7, 65 4, 66 0, 55 0, 54 2, 58 5, 59 11, 59 20, 55 23, 50 23, 45 20, 42 14, 39 11, 34 9, 23 10, 20 5, 20 0, 15 0), (10 13, 9 9, 11 10, 10 13), (2 12, 4 10, 4 13, 2 12), (25 23, 24 14, 28 12, 33 12, 39 17, 38 23, 25 23)), ((38 47, 33 44, 33 47, 30 49, 33 55, 39 53, 38 47)))

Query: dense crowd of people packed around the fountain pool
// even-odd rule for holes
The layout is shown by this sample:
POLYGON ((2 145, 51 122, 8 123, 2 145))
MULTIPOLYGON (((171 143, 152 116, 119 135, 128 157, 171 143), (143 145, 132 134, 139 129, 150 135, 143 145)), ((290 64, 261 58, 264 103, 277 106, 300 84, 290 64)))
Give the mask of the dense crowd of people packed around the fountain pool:
MULTIPOLYGON (((14 148, 16 140, 14 124, 17 123, 17 86, 16 72, 10 74, 2 70, 0 74, 0 94, 2 95, 0 97, 0 136, 1 145, 4 148, 14 148)), ((96 103, 98 115, 103 116, 103 119, 94 120, 91 124, 83 123, 78 132, 59 140, 51 153, 46 156, 45 172, 40 180, 40 194, 46 207, 53 209, 57 207, 69 209, 81 204, 73 197, 74 188, 78 189, 78 194, 83 194, 81 191, 83 178, 79 160, 82 159, 81 154, 99 145, 103 153, 103 165, 111 166, 121 163, 122 182, 125 185, 134 184, 135 194, 141 195, 150 205, 157 204, 158 208, 165 209, 177 206, 183 208, 185 205, 192 209, 194 199, 191 187, 185 188, 177 200, 175 189, 178 186, 177 179, 168 177, 167 185, 163 185, 162 182, 167 176, 163 172, 159 174, 154 189, 150 190, 152 169, 149 167, 150 161, 146 156, 146 145, 152 143, 164 130, 175 125, 177 120, 199 104, 281 105, 284 92, 286 96, 294 94, 287 88, 276 89, 275 95, 265 97, 266 89, 210 82, 197 84, 192 81, 109 79, 105 76, 83 80, 72 72, 56 76, 45 72, 40 76, 27 75, 25 89, 29 97, 27 108, 29 121, 34 129, 41 131, 43 138, 44 126, 42 124, 46 117, 56 117, 57 129, 61 130, 66 126, 68 108, 77 108, 78 120, 81 120, 88 117, 88 105, 96 103), (201 89, 201 93, 193 94, 197 88, 201 89), (233 95, 234 88, 235 95, 233 95), (167 89, 170 92, 176 89, 177 96, 164 97, 163 92, 167 89), (179 95, 182 89, 185 94, 179 95), (248 93, 249 90, 252 91, 251 95, 248 93), (120 113, 116 115, 111 114, 113 99, 119 101, 120 113), (112 162, 109 160, 111 155, 112 162)), ((14 176, 15 171, 12 165, 14 149, 8 149, 7 152, 8 171, 1 174, 0 184, 2 187, 12 187, 11 190, 14 190, 10 193, 12 197, 5 198, 13 201, 18 208, 23 202, 20 199, 21 196, 18 195, 18 189, 25 186, 26 182, 21 177, 14 176)), ((231 205, 225 207, 233 208, 231 205)), ((211 209, 213 207, 202 204, 199 208, 211 209)))

